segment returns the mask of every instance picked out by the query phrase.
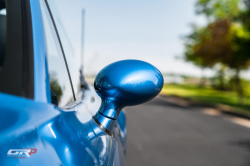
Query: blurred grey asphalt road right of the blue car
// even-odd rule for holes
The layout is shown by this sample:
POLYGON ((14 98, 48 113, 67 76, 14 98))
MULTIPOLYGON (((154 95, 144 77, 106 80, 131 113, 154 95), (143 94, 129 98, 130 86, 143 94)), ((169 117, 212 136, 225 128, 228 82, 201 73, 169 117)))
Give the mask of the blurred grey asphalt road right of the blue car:
POLYGON ((156 98, 127 107, 127 166, 250 166, 250 128, 156 98))

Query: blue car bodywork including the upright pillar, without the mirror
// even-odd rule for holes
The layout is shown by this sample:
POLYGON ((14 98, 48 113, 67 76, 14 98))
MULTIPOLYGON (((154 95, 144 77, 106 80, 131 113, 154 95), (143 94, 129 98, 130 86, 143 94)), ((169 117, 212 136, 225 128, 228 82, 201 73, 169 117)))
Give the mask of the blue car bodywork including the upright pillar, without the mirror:
POLYGON ((47 52, 39 0, 29 0, 34 50, 34 100, 0 92, 0 165, 125 165, 125 111, 113 135, 92 116, 101 99, 92 85, 63 108, 51 104, 47 52), (122 133, 122 134, 121 134, 122 133), (26 158, 10 149, 35 148, 26 158))

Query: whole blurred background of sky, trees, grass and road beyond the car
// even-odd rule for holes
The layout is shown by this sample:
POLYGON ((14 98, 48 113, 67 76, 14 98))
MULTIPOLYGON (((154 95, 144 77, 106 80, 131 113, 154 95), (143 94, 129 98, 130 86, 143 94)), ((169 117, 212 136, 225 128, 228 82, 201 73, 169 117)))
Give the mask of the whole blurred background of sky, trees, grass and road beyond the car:
POLYGON ((249 0, 57 0, 89 82, 139 59, 165 85, 127 108, 127 165, 250 166, 249 0))

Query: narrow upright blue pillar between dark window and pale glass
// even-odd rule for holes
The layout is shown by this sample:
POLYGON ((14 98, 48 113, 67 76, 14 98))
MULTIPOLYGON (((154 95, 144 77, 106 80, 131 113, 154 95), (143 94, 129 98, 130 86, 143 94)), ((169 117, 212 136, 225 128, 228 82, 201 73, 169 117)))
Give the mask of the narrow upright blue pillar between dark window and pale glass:
POLYGON ((47 52, 40 1, 30 1, 34 47, 34 99, 51 102, 47 52))

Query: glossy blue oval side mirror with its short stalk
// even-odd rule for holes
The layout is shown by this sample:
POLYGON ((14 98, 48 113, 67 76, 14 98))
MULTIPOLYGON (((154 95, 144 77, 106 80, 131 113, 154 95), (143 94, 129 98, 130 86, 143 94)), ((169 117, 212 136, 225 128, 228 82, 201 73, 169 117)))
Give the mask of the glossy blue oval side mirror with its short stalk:
POLYGON ((94 82, 102 103, 93 119, 111 135, 120 111, 156 97, 163 82, 161 72, 147 62, 122 60, 106 66, 94 82))

